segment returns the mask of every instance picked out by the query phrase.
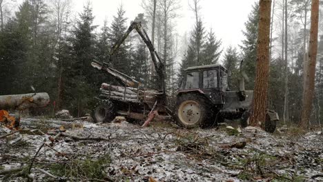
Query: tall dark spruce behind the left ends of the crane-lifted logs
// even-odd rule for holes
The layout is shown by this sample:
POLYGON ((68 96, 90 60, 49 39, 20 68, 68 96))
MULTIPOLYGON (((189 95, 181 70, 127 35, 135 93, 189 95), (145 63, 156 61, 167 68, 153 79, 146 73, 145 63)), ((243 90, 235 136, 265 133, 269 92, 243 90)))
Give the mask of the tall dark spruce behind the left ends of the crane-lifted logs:
POLYGON ((93 31, 92 8, 88 3, 84 6, 83 12, 79 14, 75 30, 73 31, 72 54, 74 57, 70 60, 70 69, 68 69, 68 80, 66 88, 68 97, 70 97, 70 108, 73 114, 81 116, 88 109, 92 108, 95 92, 95 69, 90 66, 91 61, 95 59, 95 34, 93 31))

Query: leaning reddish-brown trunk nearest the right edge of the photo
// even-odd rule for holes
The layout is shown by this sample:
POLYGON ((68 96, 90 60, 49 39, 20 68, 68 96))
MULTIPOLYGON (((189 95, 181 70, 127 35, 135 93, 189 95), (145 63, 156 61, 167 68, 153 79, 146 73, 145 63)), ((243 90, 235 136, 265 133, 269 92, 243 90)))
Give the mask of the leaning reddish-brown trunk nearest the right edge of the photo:
POLYGON ((315 86, 315 65, 317 55, 317 32, 318 32, 318 15, 319 15, 319 0, 312 0, 311 4, 311 32, 309 41, 309 61, 308 61, 308 75, 306 81, 306 88, 304 92, 304 105, 302 108, 302 118, 300 127, 307 129, 309 127, 309 120, 311 117, 314 86, 315 86))

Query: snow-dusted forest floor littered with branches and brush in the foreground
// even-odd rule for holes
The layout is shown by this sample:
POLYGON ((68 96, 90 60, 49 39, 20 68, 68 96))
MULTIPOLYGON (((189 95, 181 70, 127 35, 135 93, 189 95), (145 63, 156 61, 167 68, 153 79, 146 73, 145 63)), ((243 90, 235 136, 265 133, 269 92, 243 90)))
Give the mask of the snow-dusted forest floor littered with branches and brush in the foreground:
POLYGON ((323 181, 320 131, 35 118, 21 127, 0 139, 0 181, 323 181))

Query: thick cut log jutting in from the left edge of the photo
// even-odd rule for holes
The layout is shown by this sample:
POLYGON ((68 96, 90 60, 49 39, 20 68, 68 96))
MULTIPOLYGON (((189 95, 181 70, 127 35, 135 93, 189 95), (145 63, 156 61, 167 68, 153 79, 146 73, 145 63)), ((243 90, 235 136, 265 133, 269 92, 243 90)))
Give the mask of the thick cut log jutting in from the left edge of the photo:
POLYGON ((50 97, 46 92, 0 96, 0 108, 4 110, 26 110, 28 108, 42 108, 48 105, 49 102, 50 97))

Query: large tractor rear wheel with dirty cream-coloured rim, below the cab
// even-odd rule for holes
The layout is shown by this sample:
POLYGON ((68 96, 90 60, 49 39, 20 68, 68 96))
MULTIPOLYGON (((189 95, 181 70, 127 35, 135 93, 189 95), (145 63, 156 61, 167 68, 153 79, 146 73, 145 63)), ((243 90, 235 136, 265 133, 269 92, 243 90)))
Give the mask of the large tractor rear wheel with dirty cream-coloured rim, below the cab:
POLYGON ((213 122, 212 103, 198 94, 183 94, 177 99, 177 123, 184 128, 198 128, 213 122))

